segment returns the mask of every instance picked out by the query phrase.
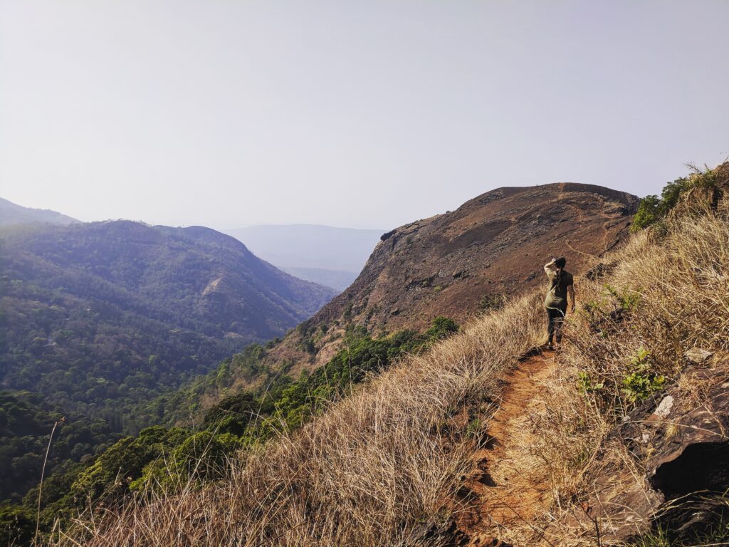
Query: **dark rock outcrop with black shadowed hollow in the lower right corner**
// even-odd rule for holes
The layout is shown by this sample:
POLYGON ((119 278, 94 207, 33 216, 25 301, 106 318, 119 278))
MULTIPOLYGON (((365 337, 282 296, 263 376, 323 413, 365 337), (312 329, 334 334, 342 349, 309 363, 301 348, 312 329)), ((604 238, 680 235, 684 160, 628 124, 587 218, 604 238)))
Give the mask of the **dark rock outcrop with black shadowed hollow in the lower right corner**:
POLYGON ((628 538, 660 521, 674 539, 688 538, 714 518, 721 504, 712 498, 729 489, 728 371, 726 357, 714 357, 708 367, 690 365, 682 383, 695 387, 695 397, 672 387, 646 400, 612 433, 645 462, 645 481, 610 468, 597 479, 592 505, 610 523, 610 536, 628 538))

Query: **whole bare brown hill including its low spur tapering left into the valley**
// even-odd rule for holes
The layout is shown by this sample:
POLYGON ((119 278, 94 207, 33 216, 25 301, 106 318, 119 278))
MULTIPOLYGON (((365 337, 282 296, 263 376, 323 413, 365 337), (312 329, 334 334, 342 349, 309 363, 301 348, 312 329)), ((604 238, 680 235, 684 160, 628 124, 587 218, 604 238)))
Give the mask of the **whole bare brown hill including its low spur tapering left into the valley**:
POLYGON ((169 398, 167 414, 179 422, 190 405, 208 406, 249 389, 256 382, 252 369, 292 377, 311 371, 340 350, 348 333, 378 338, 423 331, 438 316, 467 322, 544 284, 542 265, 555 255, 566 256, 567 269, 580 274, 588 255, 601 255, 628 236, 638 203, 634 195, 593 185, 502 187, 384 233, 350 287, 268 344, 256 365, 248 355, 235 356, 225 381, 192 386, 184 410, 176 408, 180 398, 169 398))

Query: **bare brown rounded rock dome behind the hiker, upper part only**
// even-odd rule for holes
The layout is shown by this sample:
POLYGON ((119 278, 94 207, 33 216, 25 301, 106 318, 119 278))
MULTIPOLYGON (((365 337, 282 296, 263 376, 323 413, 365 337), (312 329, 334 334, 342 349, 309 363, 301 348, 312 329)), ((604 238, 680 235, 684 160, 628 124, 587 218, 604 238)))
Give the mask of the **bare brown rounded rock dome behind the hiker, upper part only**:
POLYGON ((502 295, 543 283, 542 265, 580 272, 626 235, 638 199, 580 184, 499 188, 383 234, 362 274, 315 322, 348 316, 381 330, 463 320, 502 295))

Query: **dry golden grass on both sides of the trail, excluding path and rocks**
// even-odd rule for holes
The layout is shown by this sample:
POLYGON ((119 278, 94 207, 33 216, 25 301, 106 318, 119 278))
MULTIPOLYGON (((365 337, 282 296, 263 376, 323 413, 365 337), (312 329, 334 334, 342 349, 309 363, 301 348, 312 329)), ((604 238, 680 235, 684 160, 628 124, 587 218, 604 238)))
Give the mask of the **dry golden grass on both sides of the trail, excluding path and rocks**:
MULTIPOLYGON (((596 545, 581 503, 596 497, 602 470, 625 481, 613 486, 645 492, 642 462, 608 436, 633 406, 623 381, 640 348, 650 352, 650 374, 667 381, 681 379, 686 349, 729 349, 725 215, 674 217, 664 230, 637 234, 603 260, 604 276, 577 282, 582 310, 566 325, 558 373, 539 390, 540 404, 525 410, 537 435, 516 462, 552 495, 531 511, 537 521, 499 529, 515 546, 596 545)), ((477 449, 455 418, 498 398, 499 377, 545 340, 542 315, 541 295, 531 295, 477 319, 299 432, 241 454, 228 480, 83 515, 52 545, 451 544, 448 530, 464 511, 459 489, 477 449)), ((699 404, 702 388, 684 384, 686 400, 699 404)), ((607 533, 600 544, 618 543, 607 533)))

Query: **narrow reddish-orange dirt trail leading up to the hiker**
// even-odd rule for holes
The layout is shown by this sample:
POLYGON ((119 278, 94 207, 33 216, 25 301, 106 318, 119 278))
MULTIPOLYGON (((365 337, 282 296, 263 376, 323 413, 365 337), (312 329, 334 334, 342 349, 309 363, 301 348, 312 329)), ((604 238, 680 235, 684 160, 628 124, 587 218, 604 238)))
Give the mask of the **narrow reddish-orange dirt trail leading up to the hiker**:
POLYGON ((549 496, 544 470, 535 469, 530 450, 536 435, 527 410, 537 409, 544 381, 556 371, 554 352, 526 357, 504 377, 502 400, 489 422, 488 440, 474 455, 466 486, 475 496, 460 528, 469 546, 504 545, 495 538, 517 522, 530 523, 539 516, 549 496))

